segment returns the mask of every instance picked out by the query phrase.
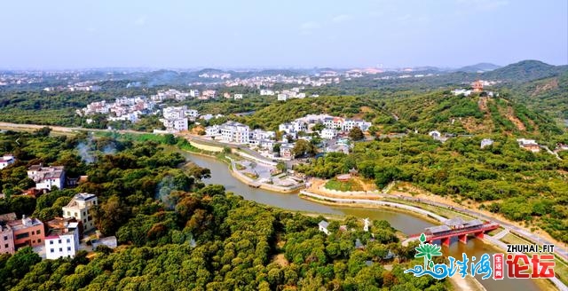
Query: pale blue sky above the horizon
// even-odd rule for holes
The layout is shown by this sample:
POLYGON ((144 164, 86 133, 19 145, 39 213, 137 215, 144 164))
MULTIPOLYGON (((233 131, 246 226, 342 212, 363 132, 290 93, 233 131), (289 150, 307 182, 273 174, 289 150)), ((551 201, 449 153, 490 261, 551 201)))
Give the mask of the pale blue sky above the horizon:
POLYGON ((568 63, 568 1, 2 1, 0 67, 568 63))

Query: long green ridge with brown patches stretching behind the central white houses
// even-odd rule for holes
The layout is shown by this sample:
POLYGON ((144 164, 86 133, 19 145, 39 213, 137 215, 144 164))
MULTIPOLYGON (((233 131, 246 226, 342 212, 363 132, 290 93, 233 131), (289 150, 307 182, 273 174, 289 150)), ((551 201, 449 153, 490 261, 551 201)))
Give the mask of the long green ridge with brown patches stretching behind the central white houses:
POLYGON ((293 99, 273 103, 241 121, 253 127, 278 130, 280 123, 305 114, 331 114, 363 118, 373 122, 374 130, 382 133, 439 130, 456 134, 539 135, 548 131, 561 132, 546 114, 537 114, 505 98, 458 97, 442 91, 403 95, 293 99))

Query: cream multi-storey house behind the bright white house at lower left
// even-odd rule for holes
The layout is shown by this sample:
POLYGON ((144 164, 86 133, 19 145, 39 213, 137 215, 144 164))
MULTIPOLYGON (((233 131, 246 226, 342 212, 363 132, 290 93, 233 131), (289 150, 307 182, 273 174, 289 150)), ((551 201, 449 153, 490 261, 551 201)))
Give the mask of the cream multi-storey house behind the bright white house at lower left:
POLYGON ((64 206, 63 218, 75 218, 83 224, 83 232, 95 229, 95 222, 92 218, 91 208, 97 205, 97 196, 90 193, 75 194, 73 199, 64 206))

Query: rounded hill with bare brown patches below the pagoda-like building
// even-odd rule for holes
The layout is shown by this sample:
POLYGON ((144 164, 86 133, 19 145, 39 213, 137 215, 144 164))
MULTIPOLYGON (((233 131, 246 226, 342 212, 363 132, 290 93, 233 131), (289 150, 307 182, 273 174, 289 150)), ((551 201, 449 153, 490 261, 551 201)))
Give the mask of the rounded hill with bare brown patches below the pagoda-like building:
POLYGON ((393 100, 387 107, 409 129, 451 133, 516 133, 539 135, 562 132, 546 114, 506 98, 459 97, 432 93, 393 100))

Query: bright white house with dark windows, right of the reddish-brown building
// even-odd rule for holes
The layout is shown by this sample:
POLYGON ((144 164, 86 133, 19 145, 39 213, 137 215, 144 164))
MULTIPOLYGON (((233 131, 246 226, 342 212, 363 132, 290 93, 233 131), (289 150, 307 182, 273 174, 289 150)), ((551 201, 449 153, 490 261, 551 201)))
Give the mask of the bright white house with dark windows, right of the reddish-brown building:
POLYGON ((51 230, 44 241, 47 259, 74 257, 79 250, 78 223, 67 223, 67 227, 64 229, 51 230))

